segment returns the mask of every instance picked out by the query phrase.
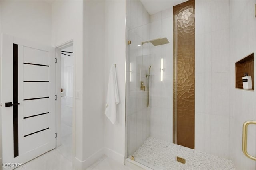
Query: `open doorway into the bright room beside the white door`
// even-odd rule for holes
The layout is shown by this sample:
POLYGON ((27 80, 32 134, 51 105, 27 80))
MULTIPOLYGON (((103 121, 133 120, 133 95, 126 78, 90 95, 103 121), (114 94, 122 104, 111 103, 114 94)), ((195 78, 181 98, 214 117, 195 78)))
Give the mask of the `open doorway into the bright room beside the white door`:
POLYGON ((70 162, 73 158, 73 84, 74 84, 74 51, 73 43, 56 49, 57 100, 57 141, 56 150, 70 162), (59 94, 59 95, 58 95, 59 94), (58 114, 59 113, 59 114, 58 114))

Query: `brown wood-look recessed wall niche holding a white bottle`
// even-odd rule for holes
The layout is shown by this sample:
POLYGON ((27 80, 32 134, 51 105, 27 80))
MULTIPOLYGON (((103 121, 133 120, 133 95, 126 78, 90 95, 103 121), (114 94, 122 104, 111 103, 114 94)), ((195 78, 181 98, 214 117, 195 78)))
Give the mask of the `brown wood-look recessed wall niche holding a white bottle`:
POLYGON ((254 53, 236 62, 236 88, 243 89, 244 73, 248 73, 252 77, 252 89, 244 90, 254 90, 254 53))

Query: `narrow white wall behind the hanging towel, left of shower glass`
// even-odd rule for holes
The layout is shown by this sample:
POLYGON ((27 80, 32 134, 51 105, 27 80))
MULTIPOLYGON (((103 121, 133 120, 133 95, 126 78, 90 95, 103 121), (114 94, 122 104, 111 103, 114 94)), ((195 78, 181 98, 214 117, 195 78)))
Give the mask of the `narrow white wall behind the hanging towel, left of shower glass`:
MULTIPOLYGON (((120 103, 117 108, 116 123, 105 117, 104 147, 105 154, 120 163, 125 155, 125 59, 126 59, 126 2, 105 2, 105 96, 111 64, 116 64, 120 103)), ((105 106, 105 105, 103 105, 105 106)), ((104 113, 104 112, 103 112, 104 113)))

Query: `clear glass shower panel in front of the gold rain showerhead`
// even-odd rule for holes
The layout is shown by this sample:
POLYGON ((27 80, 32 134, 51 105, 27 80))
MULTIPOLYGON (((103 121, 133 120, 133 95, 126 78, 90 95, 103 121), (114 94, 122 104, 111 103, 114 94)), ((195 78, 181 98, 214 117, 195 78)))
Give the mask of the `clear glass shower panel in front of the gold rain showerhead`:
POLYGON ((172 16, 129 29, 128 40, 128 158, 159 169, 156 145, 172 143, 172 16))

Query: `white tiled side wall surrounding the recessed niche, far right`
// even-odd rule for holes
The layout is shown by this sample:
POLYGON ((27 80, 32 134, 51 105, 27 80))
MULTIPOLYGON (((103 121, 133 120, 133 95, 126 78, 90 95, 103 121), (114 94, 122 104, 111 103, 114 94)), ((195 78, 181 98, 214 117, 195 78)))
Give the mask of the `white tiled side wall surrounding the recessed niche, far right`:
MULTIPOLYGON (((254 160, 242 152, 242 125, 245 121, 256 121, 256 92, 235 89, 235 62, 254 52, 256 57, 255 0, 230 0, 230 135, 232 160, 238 170, 255 170, 254 160)), ((255 80, 254 61, 254 80, 255 80)), ((255 89, 255 81, 254 81, 255 89)), ((248 152, 256 155, 256 127, 248 126, 248 152)))

